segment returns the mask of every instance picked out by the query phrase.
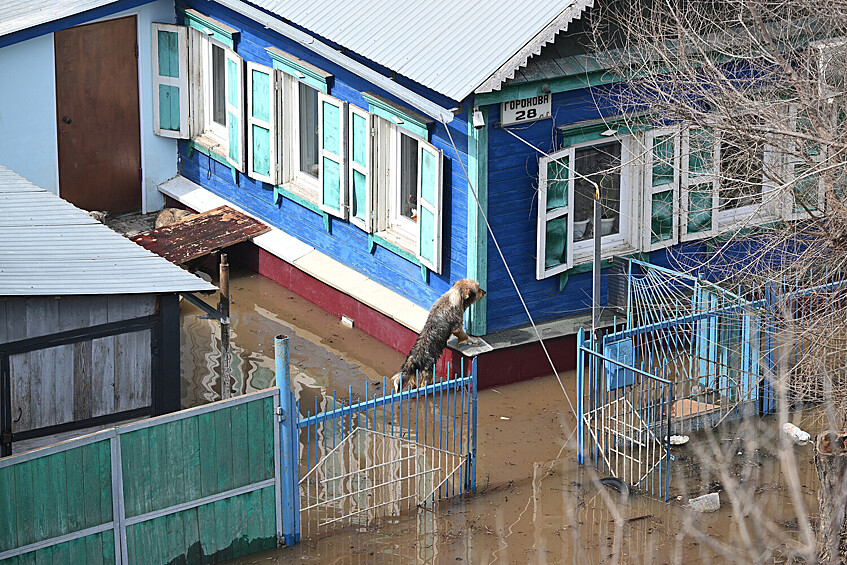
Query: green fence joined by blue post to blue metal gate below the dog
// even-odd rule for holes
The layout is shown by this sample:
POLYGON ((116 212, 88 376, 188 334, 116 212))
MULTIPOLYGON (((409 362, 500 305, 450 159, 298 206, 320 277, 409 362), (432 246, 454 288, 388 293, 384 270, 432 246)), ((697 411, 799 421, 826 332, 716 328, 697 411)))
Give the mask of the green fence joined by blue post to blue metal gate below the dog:
POLYGON ((211 563, 476 488, 475 360, 301 416, 275 354, 279 388, 0 459, 0 563, 211 563))

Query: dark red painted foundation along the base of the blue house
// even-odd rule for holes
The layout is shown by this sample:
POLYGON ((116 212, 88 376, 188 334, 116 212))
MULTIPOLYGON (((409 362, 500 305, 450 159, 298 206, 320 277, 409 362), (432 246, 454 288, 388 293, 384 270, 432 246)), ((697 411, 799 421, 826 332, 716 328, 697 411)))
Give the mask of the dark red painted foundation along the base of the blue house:
MULTIPOLYGON (((165 197, 165 200, 168 207, 185 208, 169 197, 165 197)), ((404 355, 409 352, 418 337, 417 333, 396 320, 304 273, 253 243, 230 247, 227 254, 231 262, 238 262, 279 283, 327 312, 339 318, 352 318, 358 329, 404 355)), ((545 344, 559 371, 569 371, 576 367, 576 336, 547 340, 545 344)), ((467 371, 470 359, 458 351, 445 349, 438 360, 436 371, 446 375, 449 363, 451 372, 458 373, 463 358, 467 371)), ((496 349, 477 358, 480 389, 525 381, 549 375, 551 372, 547 356, 537 342, 496 349)))

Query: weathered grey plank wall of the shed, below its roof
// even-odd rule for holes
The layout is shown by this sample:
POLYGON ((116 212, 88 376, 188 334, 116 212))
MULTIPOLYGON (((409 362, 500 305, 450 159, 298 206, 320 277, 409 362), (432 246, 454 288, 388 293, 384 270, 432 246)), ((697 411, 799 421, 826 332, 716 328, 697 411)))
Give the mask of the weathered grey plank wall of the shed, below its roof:
MULTIPOLYGON (((155 295, 7 298, 0 304, 0 343, 156 313, 155 295)), ((144 330, 10 355, 12 431, 149 406, 151 339, 144 330)))

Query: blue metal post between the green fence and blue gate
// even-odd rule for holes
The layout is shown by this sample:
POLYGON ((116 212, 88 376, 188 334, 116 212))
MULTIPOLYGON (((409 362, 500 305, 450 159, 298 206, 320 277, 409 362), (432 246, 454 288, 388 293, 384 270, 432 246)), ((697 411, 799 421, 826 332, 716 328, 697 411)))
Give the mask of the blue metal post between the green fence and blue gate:
POLYGON ((279 387, 280 414, 279 437, 282 456, 280 488, 282 490, 282 537, 285 545, 293 545, 300 539, 298 514, 300 493, 296 488, 299 482, 297 476, 297 458, 300 456, 297 445, 294 444, 297 430, 297 414, 294 412, 294 402, 291 393, 291 372, 289 370, 288 336, 278 335, 274 339, 274 357, 276 360, 276 385, 279 387))

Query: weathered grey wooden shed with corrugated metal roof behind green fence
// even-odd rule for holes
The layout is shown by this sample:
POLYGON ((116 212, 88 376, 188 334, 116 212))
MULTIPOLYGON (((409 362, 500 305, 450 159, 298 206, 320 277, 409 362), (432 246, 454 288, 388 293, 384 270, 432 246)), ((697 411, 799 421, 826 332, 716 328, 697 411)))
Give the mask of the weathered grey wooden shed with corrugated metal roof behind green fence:
POLYGON ((179 293, 215 287, 0 166, 0 449, 180 408, 179 293))

